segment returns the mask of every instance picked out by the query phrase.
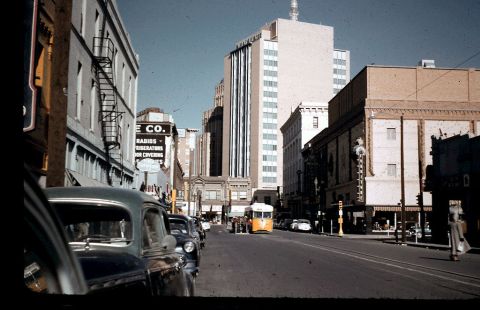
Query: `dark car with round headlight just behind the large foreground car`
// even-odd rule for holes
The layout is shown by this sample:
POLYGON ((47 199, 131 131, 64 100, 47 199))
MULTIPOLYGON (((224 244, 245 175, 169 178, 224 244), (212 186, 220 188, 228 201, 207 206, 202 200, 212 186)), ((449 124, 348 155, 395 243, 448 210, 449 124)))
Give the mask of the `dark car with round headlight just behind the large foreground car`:
MULTIPOLYGON (((169 214, 170 231, 177 239, 176 252, 182 254, 186 261, 186 269, 195 277, 200 266, 200 240, 195 236, 193 218, 182 214, 169 214)), ((198 234, 197 234, 198 235, 198 234)))

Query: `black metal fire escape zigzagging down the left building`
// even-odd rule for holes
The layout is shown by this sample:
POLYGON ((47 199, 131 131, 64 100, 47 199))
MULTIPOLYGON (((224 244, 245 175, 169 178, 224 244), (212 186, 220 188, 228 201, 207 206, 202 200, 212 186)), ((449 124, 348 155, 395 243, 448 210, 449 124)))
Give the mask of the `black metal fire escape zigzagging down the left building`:
POLYGON ((99 102, 99 121, 102 128, 102 138, 107 159, 107 180, 113 185, 113 164, 115 161, 120 169, 120 184, 123 177, 122 131, 120 120, 124 112, 118 109, 117 88, 115 86, 115 66, 113 62, 114 44, 108 37, 94 37, 93 51, 95 60, 95 84, 97 102, 99 102))

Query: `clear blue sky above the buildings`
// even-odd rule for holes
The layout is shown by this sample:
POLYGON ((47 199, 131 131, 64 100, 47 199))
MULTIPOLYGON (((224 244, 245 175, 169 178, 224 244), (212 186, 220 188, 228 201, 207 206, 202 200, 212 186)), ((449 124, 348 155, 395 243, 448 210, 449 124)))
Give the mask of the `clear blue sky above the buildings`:
MULTIPOLYGON (((117 0, 140 55, 137 111, 159 107, 177 128, 201 129, 237 41, 276 18, 290 0, 117 0)), ((298 0, 299 20, 334 27, 350 50, 351 77, 365 65, 480 68, 479 0, 298 0), (476 55, 467 61, 470 57, 476 55)))

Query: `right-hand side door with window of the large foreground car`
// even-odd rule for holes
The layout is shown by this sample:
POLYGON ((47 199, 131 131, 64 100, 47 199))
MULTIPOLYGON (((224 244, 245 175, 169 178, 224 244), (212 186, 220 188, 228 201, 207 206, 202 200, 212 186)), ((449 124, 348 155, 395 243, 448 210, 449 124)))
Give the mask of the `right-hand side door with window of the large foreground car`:
POLYGON ((176 240, 168 234, 166 218, 166 213, 155 205, 144 207, 142 255, 151 291, 153 295, 188 296, 182 261, 175 253, 176 240))

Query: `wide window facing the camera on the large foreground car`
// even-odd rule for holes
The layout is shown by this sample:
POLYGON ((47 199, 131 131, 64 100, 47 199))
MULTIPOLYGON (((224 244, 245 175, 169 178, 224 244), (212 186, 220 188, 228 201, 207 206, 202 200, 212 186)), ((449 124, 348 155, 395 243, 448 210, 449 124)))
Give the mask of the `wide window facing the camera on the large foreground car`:
POLYGON ((132 241, 129 213, 120 207, 58 204, 56 207, 70 243, 127 245, 132 241))

